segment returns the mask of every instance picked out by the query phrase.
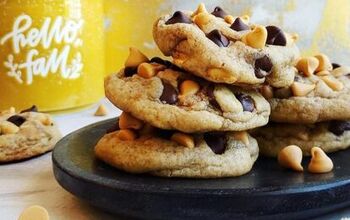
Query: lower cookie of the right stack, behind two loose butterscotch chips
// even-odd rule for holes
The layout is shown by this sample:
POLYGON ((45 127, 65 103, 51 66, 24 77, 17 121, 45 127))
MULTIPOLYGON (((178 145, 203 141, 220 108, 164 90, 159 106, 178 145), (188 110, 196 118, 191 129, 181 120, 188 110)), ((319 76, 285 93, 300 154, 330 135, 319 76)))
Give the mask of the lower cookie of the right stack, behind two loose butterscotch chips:
POLYGON ((350 146, 350 122, 330 121, 316 124, 269 123, 251 133, 259 143, 260 153, 277 157, 282 148, 297 145, 303 155, 310 155, 311 148, 320 147, 325 152, 335 152, 350 146))

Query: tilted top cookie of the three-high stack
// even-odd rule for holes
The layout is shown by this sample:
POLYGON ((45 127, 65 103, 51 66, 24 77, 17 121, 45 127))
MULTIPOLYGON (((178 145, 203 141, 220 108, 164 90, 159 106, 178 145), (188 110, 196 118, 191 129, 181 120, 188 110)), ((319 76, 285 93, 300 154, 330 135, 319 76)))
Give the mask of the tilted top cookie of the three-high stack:
POLYGON ((296 35, 275 26, 251 24, 217 7, 208 13, 177 11, 153 27, 159 49, 181 68, 217 83, 289 86, 299 57, 296 35))

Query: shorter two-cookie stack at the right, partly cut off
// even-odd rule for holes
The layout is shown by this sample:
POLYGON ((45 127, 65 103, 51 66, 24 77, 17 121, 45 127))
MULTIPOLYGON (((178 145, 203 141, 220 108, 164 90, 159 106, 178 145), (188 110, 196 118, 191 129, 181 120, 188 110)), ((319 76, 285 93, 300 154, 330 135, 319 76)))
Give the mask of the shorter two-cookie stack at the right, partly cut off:
POLYGON ((291 86, 266 87, 271 104, 267 126, 254 131, 261 153, 277 156, 288 145, 304 155, 312 147, 334 152, 350 146, 350 68, 331 63, 324 54, 301 58, 291 86), (277 122, 277 123, 276 123, 277 122))

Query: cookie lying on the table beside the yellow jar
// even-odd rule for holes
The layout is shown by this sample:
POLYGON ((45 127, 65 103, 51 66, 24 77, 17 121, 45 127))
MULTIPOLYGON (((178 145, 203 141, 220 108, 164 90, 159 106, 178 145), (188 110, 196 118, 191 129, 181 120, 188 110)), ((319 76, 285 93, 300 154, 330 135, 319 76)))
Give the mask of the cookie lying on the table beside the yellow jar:
POLYGON ((0 113, 0 163, 23 160, 50 151, 61 137, 48 114, 35 107, 0 113))

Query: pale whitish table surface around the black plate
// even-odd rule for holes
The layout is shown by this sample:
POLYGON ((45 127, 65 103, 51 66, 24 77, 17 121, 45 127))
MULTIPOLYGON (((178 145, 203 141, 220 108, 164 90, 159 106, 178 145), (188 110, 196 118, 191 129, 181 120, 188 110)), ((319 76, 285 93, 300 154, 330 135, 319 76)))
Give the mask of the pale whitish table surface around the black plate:
MULTIPOLYGON (((62 134, 120 114, 120 110, 108 101, 102 103, 109 109, 109 114, 104 117, 93 116, 97 105, 75 113, 55 115, 62 134)), ((31 205, 45 207, 52 220, 117 219, 65 191, 54 178, 51 153, 20 163, 0 165, 0 220, 16 220, 21 211, 31 205)), ((350 219, 350 208, 317 219, 350 219)))

